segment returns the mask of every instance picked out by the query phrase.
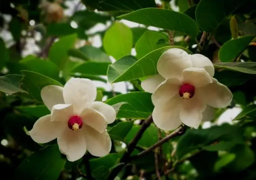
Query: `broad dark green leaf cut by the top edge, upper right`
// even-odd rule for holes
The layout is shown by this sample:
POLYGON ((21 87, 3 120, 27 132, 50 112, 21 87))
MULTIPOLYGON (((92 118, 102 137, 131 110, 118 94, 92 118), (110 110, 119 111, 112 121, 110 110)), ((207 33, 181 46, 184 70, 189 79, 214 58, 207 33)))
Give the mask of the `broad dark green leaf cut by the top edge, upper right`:
POLYGON ((211 32, 243 2, 241 0, 201 0, 196 8, 196 21, 204 31, 211 32))

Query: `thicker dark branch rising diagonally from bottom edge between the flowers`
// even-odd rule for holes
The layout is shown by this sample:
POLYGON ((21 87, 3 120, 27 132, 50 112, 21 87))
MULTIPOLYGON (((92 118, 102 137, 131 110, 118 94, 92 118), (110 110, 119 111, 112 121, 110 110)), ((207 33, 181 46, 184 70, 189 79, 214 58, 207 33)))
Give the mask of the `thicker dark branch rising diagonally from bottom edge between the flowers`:
POLYGON ((138 141, 141 139, 145 130, 150 126, 153 122, 152 115, 150 115, 142 124, 141 128, 139 129, 138 133, 132 139, 132 141, 128 144, 126 152, 123 154, 123 157, 120 159, 119 163, 122 165, 114 168, 111 173, 109 174, 107 180, 113 180, 118 173, 122 170, 122 168, 131 161, 130 155, 133 152, 134 148, 136 147, 138 141))

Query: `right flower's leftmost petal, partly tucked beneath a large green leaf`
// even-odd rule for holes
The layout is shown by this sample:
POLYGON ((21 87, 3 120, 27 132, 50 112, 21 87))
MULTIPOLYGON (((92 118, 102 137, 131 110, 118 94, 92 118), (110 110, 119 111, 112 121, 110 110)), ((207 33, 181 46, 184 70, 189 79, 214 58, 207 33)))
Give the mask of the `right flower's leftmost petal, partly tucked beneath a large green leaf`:
POLYGON ((159 74, 152 75, 141 82, 141 87, 144 91, 153 93, 156 90, 157 86, 159 86, 164 80, 165 78, 163 78, 159 74))

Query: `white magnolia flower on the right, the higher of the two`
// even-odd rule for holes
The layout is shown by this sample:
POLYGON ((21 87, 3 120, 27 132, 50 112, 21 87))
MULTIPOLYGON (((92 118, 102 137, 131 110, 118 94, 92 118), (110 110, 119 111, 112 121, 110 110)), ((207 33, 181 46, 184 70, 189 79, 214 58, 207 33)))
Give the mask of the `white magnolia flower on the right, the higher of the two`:
POLYGON ((232 100, 231 91, 212 78, 212 62, 201 54, 169 49, 159 58, 157 71, 141 85, 153 93, 152 116, 160 129, 173 130, 181 123, 198 128, 201 121, 213 118, 214 108, 224 108, 232 100))

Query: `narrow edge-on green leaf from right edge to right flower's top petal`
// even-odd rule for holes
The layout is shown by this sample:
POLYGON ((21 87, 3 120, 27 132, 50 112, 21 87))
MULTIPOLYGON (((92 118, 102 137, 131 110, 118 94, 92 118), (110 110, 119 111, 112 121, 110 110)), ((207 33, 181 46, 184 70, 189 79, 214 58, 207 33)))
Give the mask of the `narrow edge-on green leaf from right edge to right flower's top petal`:
POLYGON ((214 67, 217 69, 227 69, 247 74, 256 74, 256 62, 219 62, 214 63, 214 67))

